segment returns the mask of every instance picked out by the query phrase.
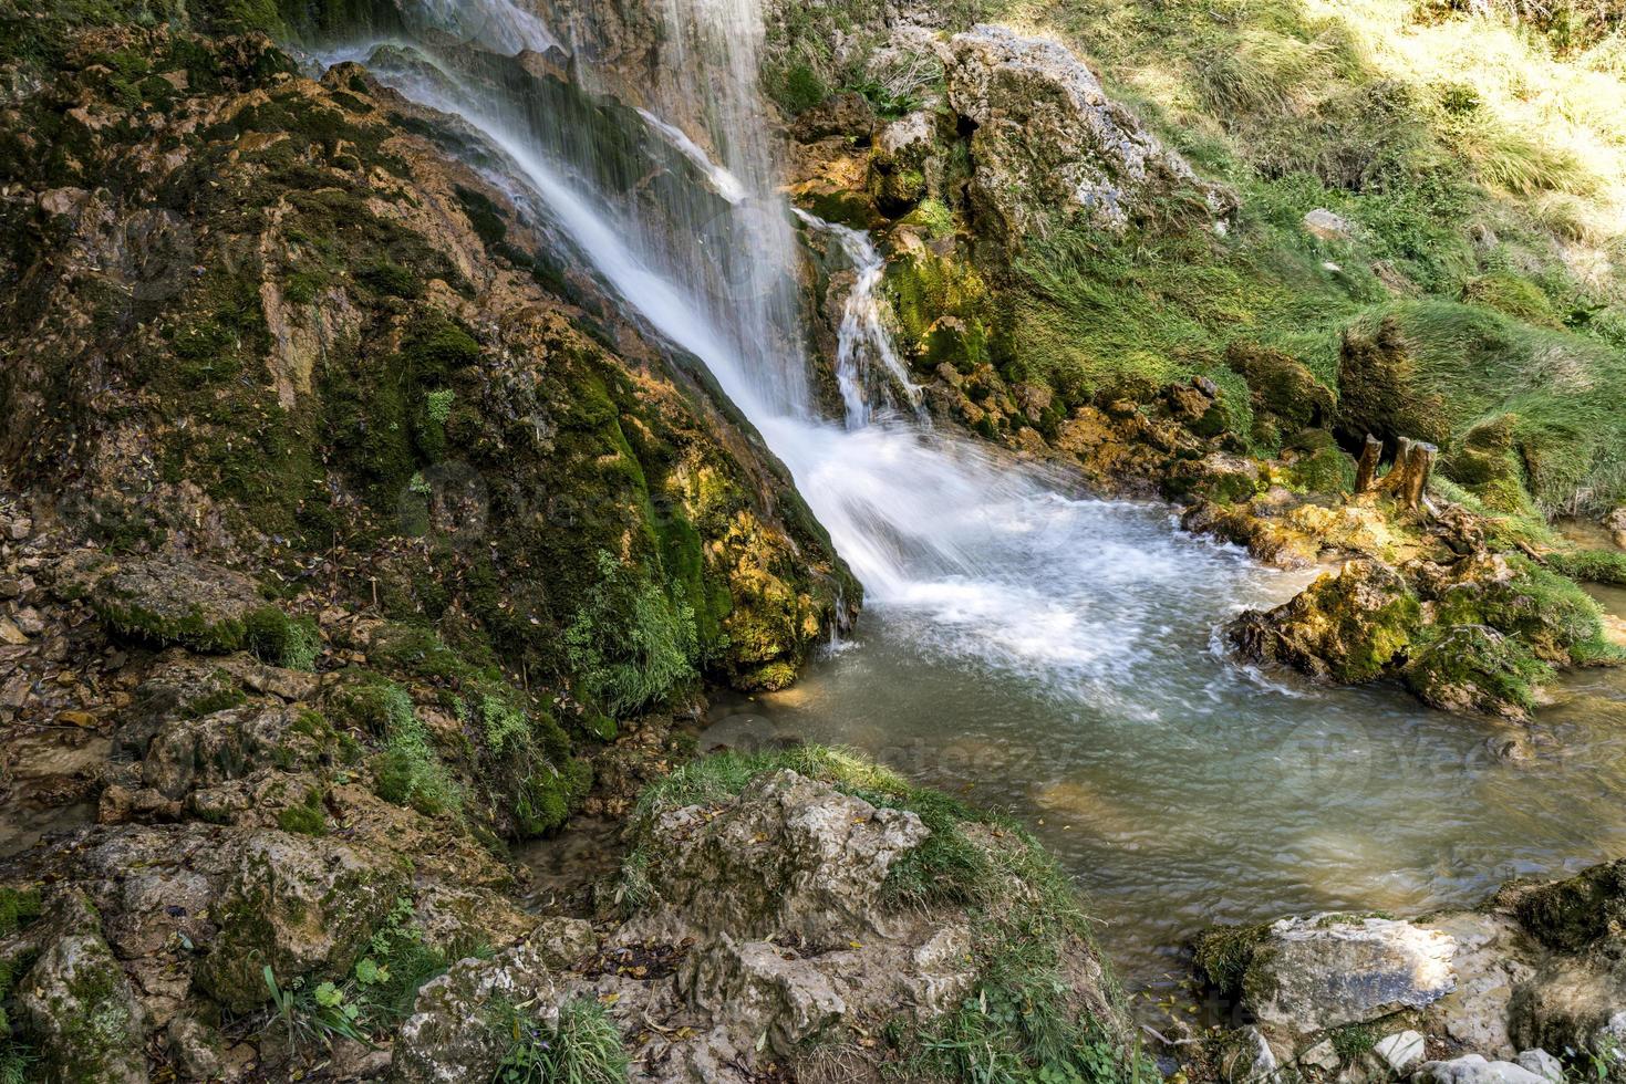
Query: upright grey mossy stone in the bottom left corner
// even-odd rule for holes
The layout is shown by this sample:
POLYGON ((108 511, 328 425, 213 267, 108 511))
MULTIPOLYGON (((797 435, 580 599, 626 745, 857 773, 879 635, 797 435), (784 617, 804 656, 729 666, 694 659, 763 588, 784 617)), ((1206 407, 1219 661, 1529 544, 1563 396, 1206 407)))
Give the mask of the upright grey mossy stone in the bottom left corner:
POLYGON ((70 933, 46 947, 18 982, 16 1006, 41 1040, 41 1079, 148 1079, 146 1012, 99 934, 70 933))

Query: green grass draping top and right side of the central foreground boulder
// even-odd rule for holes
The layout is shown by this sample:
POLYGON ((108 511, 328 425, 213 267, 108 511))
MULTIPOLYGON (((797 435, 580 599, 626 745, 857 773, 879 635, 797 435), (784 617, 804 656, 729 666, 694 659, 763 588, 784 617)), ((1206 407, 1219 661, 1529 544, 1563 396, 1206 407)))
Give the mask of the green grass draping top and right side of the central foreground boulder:
MULTIPOLYGON (((974 917, 977 983, 946 1017, 893 1035, 899 1060, 919 1074, 990 1084, 1153 1079, 1102 1006, 1076 1001, 1065 978, 1072 954, 1093 951, 1089 921, 1072 879, 1008 817, 915 787, 862 757, 802 746, 780 752, 722 752, 649 787, 633 814, 639 826, 689 804, 724 803, 766 772, 790 769, 889 809, 909 809, 932 834, 893 863, 886 894, 896 907, 963 905, 974 917)), ((647 902, 652 861, 634 848, 621 873, 623 904, 647 902)), ((1117 996, 1115 990, 1107 991, 1117 996)), ((1104 1006, 1109 1014, 1120 1004, 1104 1006)))

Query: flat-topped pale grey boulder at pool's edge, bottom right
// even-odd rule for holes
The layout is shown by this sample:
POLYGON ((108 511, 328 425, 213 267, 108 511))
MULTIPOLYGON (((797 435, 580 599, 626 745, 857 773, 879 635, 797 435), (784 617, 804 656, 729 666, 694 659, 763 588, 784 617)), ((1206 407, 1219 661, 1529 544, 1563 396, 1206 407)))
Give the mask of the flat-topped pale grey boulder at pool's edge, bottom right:
POLYGON ((1311 1034, 1426 1008, 1455 988, 1449 934, 1387 918, 1285 918, 1254 947, 1242 1003, 1263 1024, 1311 1034))

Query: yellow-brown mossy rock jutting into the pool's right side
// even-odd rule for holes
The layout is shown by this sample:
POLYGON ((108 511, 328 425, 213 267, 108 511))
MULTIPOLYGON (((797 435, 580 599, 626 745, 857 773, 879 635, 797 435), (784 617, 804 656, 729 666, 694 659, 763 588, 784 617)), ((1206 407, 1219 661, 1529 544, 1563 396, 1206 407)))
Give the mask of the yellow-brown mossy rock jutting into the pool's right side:
POLYGON ((1351 561, 1270 613, 1228 626, 1237 648, 1338 683, 1379 676, 1411 644, 1423 619, 1406 580, 1377 561, 1351 561))

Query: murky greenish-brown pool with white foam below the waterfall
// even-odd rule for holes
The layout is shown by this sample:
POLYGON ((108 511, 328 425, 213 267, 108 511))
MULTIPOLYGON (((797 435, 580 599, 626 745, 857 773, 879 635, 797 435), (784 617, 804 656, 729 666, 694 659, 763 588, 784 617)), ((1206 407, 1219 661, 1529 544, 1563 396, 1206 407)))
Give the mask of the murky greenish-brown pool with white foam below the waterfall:
POLYGON ((1567 678, 1533 733, 1392 686, 1265 676, 1215 629, 1306 575, 1184 536, 1161 507, 1060 509, 1039 538, 1010 528, 997 575, 873 601, 793 689, 719 702, 702 748, 844 744, 1008 808, 1141 990, 1177 982, 1213 923, 1418 913, 1626 853, 1621 671, 1567 678), (1520 735, 1527 759, 1496 754, 1520 735))

